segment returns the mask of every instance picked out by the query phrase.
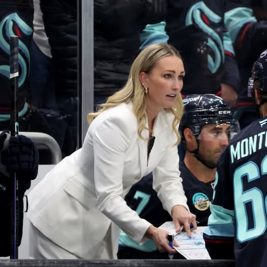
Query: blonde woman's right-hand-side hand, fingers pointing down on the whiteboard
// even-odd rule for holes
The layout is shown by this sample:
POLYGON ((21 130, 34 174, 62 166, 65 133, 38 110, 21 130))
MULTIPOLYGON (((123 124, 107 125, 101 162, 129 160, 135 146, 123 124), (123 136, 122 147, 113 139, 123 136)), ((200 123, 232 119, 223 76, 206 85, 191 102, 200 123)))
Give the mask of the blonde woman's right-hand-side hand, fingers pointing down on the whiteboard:
POLYGON ((189 212, 184 206, 176 205, 172 208, 172 217, 175 225, 176 232, 181 230, 181 226, 184 225, 184 230, 187 232, 187 235, 191 238, 192 233, 191 229, 195 230, 196 227, 196 216, 189 212), (190 228, 192 223, 193 227, 190 228))

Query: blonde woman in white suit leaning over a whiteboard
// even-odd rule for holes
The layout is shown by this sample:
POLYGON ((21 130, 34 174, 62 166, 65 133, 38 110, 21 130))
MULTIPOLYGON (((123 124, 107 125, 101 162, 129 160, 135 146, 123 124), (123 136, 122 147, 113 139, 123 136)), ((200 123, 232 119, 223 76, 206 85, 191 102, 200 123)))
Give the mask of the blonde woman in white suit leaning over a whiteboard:
POLYGON ((132 63, 124 88, 88 114, 82 148, 28 195, 30 258, 115 259, 120 229, 139 244, 149 238, 159 251, 175 253, 168 231, 141 219, 124 201, 151 171, 164 209, 190 236, 195 215, 188 211, 177 153, 184 75, 174 47, 150 45, 132 63))

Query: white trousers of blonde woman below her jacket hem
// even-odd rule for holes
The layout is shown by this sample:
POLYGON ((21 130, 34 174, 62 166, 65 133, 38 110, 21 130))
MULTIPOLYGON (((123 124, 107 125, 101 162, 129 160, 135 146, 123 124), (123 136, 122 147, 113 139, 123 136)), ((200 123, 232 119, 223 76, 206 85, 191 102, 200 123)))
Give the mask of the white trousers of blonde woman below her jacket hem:
POLYGON ((80 259, 78 256, 59 247, 29 223, 30 259, 80 259))

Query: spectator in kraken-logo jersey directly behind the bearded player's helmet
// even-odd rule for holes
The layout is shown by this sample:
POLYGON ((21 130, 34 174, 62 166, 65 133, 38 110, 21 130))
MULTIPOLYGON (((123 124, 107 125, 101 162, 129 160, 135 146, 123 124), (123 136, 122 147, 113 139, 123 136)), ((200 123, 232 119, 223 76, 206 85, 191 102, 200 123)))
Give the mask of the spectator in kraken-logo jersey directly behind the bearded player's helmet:
MULTIPOLYGON (((214 93, 228 106, 236 104, 240 78, 226 30, 228 9, 230 6, 225 0, 168 1, 165 19, 168 43, 181 51, 187 72, 183 97, 192 93, 214 93)), ((150 28, 151 25, 147 25, 142 32, 142 42, 150 36, 150 28)))

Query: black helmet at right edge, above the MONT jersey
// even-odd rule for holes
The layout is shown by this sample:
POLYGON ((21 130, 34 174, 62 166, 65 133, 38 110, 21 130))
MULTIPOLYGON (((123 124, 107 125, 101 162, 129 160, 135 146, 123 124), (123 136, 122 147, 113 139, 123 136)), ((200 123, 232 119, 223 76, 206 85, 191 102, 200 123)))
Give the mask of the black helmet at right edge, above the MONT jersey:
MULTIPOLYGON (((252 66, 252 77, 249 78, 248 95, 255 101, 255 89, 259 94, 267 94, 267 49, 264 50, 252 66), (256 82, 258 81, 258 83, 256 82)), ((260 103, 260 105, 263 103, 260 103)))

